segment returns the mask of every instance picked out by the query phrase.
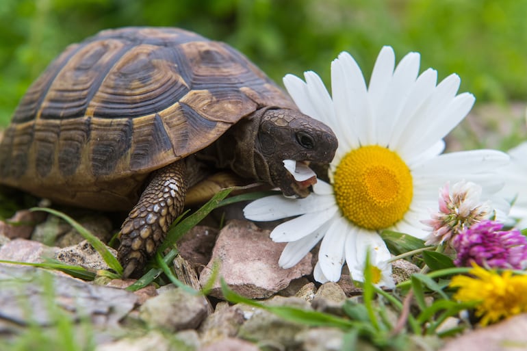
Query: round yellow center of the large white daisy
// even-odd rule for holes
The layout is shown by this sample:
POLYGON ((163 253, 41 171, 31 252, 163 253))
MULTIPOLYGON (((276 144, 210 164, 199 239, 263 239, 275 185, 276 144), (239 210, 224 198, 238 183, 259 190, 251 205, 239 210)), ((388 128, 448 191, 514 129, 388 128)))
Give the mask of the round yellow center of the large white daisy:
POLYGON ((410 207, 410 170, 387 148, 370 145, 350 151, 337 166, 333 180, 344 216, 365 229, 385 229, 402 220, 410 207))

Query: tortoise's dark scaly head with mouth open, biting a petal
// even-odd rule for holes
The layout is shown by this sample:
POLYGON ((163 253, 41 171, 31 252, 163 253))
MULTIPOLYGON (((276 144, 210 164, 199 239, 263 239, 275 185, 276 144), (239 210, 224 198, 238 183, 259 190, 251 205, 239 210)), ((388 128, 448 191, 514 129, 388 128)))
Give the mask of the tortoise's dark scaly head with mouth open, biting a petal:
MULTIPOLYGON (((316 177, 294 177, 284 161, 296 161, 297 170, 311 162, 329 164, 337 150, 337 137, 324 123, 293 109, 266 109, 255 140, 255 168, 261 179, 279 187, 285 196, 304 198, 316 177), (295 179, 296 178, 296 179, 295 179)), ((294 167, 294 166, 293 166, 294 167)), ((301 172, 301 171, 300 171, 301 172)))

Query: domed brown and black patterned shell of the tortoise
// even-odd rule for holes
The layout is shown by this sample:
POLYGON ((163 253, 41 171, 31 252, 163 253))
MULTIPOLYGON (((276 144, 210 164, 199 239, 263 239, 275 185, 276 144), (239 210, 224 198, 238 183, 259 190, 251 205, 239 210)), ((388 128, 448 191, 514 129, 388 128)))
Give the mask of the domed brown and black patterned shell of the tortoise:
POLYGON ((296 109, 227 44, 175 28, 101 31, 67 47, 27 90, 0 144, 0 182, 130 209, 149 173, 261 106, 296 109))

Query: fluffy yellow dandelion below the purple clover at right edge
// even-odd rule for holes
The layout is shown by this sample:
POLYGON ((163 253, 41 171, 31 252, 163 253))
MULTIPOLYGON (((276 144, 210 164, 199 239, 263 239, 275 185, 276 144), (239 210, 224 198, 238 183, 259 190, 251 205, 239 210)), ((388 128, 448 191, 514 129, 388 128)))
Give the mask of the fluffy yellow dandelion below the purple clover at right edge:
POLYGON ((502 318, 527 312, 527 275, 513 275, 506 270, 499 274, 474 265, 472 276, 454 276, 451 287, 459 287, 454 299, 478 302, 476 316, 480 324, 498 322, 502 318))

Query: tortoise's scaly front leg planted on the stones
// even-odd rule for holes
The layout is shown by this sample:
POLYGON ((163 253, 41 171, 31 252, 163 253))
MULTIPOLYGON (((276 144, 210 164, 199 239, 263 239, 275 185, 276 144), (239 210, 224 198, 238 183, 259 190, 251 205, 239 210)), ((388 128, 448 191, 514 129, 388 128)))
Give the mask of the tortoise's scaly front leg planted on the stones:
POLYGON ((123 276, 140 275, 146 259, 155 254, 170 224, 183 211, 187 185, 185 161, 177 161, 153 172, 139 202, 120 229, 117 258, 123 276))

